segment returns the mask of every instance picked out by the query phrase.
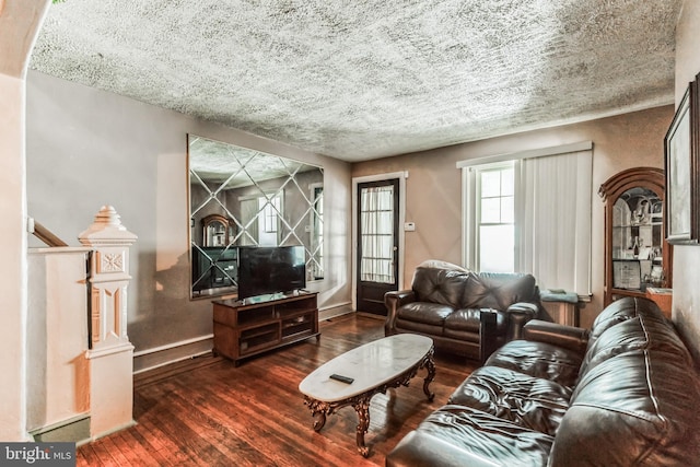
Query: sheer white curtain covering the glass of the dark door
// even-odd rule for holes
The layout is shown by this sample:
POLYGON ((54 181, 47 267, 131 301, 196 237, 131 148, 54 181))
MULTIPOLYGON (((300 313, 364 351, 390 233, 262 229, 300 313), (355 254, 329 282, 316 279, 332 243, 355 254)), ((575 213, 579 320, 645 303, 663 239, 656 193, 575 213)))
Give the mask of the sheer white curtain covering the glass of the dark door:
POLYGON ((361 190, 360 275, 362 281, 394 282, 394 187, 361 190))

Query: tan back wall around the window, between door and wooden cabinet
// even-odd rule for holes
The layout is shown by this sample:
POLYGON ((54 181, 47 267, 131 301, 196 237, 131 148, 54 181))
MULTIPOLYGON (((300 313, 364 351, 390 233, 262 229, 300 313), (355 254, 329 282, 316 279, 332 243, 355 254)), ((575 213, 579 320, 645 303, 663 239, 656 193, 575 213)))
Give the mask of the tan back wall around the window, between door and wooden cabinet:
POLYGON ((462 177, 457 161, 593 141, 593 301, 581 315, 588 326, 603 305, 604 206, 598 187, 616 173, 638 166, 664 166, 664 135, 673 106, 616 117, 492 138, 422 153, 354 164, 352 176, 408 171, 404 287, 410 287, 413 269, 424 259, 462 261, 462 177))

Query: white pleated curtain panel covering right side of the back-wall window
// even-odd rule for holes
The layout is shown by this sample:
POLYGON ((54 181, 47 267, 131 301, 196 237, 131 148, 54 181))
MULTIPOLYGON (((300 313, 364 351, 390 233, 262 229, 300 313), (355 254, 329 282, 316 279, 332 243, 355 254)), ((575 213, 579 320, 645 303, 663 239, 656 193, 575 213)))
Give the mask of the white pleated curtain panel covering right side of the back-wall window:
POLYGON ((592 151, 520 161, 518 270, 542 289, 591 293, 592 151))

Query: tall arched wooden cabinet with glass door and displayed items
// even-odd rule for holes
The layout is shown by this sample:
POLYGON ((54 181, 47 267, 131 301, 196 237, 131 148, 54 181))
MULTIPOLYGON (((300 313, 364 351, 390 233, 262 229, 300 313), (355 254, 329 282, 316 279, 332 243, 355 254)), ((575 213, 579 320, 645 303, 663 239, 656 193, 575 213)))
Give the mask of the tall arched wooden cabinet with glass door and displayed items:
POLYGON ((646 288, 670 288, 670 245, 665 236, 664 172, 622 171, 600 185, 605 202, 605 296, 645 296, 646 288))

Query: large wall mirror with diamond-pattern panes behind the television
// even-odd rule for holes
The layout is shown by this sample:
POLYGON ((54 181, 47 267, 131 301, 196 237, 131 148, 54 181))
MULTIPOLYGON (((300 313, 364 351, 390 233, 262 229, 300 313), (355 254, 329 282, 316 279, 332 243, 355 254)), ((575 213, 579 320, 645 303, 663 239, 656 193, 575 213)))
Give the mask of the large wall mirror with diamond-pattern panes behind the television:
POLYGON ((242 246, 303 245, 324 278, 323 168, 188 135, 191 296, 237 292, 242 246))

